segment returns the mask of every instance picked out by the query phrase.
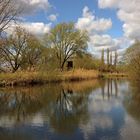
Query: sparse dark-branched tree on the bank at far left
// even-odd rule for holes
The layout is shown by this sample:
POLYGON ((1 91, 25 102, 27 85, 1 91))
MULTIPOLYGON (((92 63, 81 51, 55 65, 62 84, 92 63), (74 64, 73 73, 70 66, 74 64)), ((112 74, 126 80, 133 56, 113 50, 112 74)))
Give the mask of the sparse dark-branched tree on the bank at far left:
POLYGON ((12 72, 17 71, 22 64, 22 56, 27 48, 27 38, 28 33, 21 27, 16 27, 14 33, 2 42, 0 50, 4 59, 3 65, 9 66, 12 72))

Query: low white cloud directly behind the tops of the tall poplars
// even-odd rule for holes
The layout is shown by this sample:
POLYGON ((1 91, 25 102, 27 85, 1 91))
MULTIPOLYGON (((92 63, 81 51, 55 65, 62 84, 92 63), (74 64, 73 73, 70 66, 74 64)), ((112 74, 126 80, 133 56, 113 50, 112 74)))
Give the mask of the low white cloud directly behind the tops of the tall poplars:
POLYGON ((129 40, 126 37, 112 38, 108 34, 93 35, 90 38, 91 41, 89 42, 89 51, 99 58, 101 56, 101 51, 103 49, 106 51, 109 48, 109 50, 113 52, 113 57, 114 51, 117 50, 118 57, 120 60, 125 52, 125 49, 133 43, 133 41, 129 40))

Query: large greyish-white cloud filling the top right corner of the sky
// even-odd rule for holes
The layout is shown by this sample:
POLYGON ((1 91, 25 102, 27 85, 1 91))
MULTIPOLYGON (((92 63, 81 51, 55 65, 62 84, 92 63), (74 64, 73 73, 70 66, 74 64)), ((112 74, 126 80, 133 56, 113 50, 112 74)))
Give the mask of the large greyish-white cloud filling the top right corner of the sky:
POLYGON ((140 0, 98 0, 100 8, 114 8, 117 16, 124 22, 123 31, 126 37, 140 40, 140 0))

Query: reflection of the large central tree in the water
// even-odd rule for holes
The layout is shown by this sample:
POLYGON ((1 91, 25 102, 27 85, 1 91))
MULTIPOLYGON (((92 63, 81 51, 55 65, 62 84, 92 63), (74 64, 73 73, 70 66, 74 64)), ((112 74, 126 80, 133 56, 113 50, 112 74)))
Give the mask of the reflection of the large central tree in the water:
POLYGON ((77 95, 72 89, 63 89, 56 99, 55 112, 51 115, 51 125, 60 133, 73 133, 80 121, 88 120, 88 94, 77 95))

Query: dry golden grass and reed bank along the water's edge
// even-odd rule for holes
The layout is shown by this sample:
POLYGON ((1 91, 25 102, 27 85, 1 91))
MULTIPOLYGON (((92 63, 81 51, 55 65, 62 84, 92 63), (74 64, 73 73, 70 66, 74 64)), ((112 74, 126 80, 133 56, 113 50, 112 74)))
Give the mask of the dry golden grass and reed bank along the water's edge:
POLYGON ((95 70, 72 70, 66 72, 16 72, 1 73, 0 86, 26 86, 63 81, 80 81, 98 78, 95 70))

